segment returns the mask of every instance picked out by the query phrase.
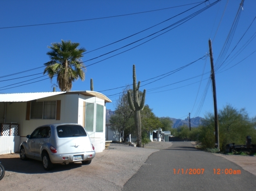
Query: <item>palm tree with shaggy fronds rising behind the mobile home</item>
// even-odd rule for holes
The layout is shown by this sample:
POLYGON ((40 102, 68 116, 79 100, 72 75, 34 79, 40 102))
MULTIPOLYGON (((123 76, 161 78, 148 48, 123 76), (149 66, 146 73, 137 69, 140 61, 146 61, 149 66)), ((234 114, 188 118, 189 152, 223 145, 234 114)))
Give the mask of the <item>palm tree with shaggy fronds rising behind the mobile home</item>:
POLYGON ((51 61, 45 63, 44 74, 47 73, 51 78, 57 76, 57 83, 60 91, 70 91, 72 82, 80 78, 85 80, 85 65, 82 63, 82 53, 85 48, 77 48, 79 43, 72 43, 61 40, 61 43, 51 43, 52 46, 46 54, 51 61))

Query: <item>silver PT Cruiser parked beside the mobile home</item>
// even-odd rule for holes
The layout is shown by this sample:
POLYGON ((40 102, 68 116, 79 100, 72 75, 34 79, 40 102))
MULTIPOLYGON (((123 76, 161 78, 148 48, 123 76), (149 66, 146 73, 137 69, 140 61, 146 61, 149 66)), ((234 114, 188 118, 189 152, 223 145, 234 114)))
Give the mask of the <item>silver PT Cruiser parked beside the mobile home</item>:
POLYGON ((86 130, 79 124, 50 124, 36 128, 20 145, 20 158, 42 161, 45 170, 53 164, 81 161, 88 165, 95 156, 86 130))

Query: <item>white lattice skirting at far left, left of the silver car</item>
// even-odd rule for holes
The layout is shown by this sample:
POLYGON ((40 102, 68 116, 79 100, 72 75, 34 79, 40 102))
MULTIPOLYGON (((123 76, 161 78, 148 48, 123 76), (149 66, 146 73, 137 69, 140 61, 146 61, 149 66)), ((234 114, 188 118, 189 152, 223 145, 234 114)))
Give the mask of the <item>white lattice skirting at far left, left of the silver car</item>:
POLYGON ((20 147, 20 136, 1 136, 0 154, 18 152, 20 147))

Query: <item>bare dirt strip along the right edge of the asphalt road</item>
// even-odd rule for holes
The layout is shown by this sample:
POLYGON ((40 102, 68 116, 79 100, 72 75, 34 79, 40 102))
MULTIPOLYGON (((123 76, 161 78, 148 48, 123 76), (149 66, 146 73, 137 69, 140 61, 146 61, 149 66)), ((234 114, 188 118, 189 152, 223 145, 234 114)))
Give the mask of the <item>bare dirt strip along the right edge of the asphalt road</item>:
MULTIPOLYGON (((196 142, 192 141, 191 144, 196 146, 196 142)), ((256 156, 235 155, 235 154, 229 155, 229 154, 218 154, 218 153, 212 153, 212 154, 226 158, 227 160, 232 161, 233 163, 236 163, 237 165, 242 167, 244 170, 256 176, 256 156)))

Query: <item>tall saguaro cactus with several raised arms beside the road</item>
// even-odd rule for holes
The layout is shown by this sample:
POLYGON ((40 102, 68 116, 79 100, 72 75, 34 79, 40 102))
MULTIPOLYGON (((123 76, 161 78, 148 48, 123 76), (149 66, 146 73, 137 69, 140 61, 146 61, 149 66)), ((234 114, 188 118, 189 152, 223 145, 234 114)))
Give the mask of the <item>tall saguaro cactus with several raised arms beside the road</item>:
POLYGON ((137 147, 141 147, 141 122, 140 122, 140 111, 144 109, 144 103, 145 103, 145 96, 146 96, 146 90, 144 89, 142 94, 142 100, 140 102, 140 95, 138 93, 140 88, 140 81, 138 82, 138 85, 136 84, 136 71, 135 71, 135 65, 133 66, 133 97, 131 98, 131 92, 128 91, 128 102, 129 106, 132 111, 134 111, 134 122, 136 125, 136 136, 137 136, 137 147))

